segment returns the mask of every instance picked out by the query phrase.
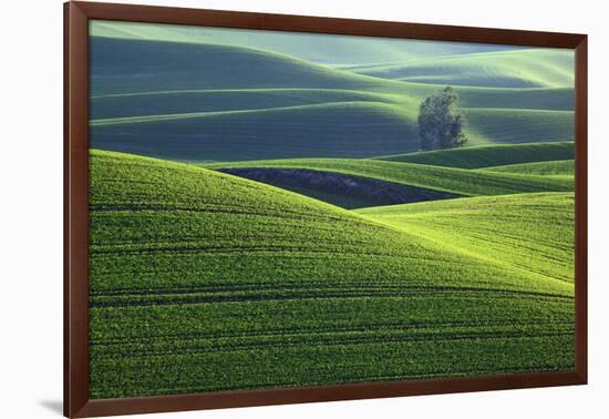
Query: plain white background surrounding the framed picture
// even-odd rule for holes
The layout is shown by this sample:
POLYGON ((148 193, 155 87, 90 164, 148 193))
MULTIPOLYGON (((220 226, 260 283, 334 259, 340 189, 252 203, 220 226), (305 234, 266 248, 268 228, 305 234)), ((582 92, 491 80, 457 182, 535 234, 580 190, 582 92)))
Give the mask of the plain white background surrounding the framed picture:
MULTIPOLYGON (((148 4, 588 33, 588 386, 154 415, 154 418, 608 417, 609 23, 584 0, 141 0, 148 4)), ((131 2, 123 0, 123 2, 131 2)), ((0 418, 59 418, 62 399, 62 1, 2 3, 0 418)))

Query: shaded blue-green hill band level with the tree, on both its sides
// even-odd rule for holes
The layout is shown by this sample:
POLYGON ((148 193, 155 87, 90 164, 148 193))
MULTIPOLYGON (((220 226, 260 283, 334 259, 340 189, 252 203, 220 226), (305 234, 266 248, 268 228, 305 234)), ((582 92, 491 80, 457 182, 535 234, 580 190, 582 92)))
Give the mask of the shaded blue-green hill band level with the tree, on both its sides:
MULTIPOLYGON (((570 112, 467 110, 466 114, 472 145, 569 141, 574 135, 570 112)), ((96 149, 199 162, 373 157, 417 151, 414 121, 412 109, 400 104, 337 102, 93 120, 91 143, 96 149)))

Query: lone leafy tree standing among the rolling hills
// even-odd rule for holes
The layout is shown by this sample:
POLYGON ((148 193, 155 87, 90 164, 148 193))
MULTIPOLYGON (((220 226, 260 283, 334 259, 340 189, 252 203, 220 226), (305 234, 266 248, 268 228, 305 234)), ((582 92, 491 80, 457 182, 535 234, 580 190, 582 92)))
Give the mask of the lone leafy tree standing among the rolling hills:
POLYGON ((453 149, 467 142, 465 116, 456 108, 458 98, 451 86, 427 96, 419 108, 421 150, 453 149))

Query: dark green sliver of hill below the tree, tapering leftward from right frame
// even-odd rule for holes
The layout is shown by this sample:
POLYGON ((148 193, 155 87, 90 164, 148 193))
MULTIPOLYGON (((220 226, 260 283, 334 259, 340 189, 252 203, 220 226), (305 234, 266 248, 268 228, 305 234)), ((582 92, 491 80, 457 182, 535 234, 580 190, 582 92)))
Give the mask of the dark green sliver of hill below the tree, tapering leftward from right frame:
POLYGON ((569 160, 574 159, 574 143, 562 142, 483 145, 477 147, 437 150, 376 159, 434 166, 481 168, 498 165, 569 160))

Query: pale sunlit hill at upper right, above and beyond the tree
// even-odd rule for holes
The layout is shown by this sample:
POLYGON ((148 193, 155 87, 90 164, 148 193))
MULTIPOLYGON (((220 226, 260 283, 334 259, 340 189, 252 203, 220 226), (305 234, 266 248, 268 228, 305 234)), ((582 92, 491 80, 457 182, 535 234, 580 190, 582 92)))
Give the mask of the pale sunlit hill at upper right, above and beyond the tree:
POLYGON ((559 49, 484 52, 350 68, 383 79, 495 88, 572 86, 572 69, 574 52, 559 49))

